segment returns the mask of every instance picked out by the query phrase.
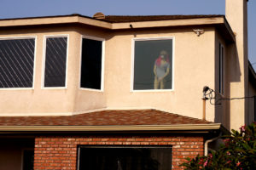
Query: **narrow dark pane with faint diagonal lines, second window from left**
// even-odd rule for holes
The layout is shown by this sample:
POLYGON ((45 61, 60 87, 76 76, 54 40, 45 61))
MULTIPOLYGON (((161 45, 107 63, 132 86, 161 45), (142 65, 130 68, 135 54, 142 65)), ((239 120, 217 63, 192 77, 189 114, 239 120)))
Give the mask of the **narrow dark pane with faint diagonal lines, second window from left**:
POLYGON ((67 37, 46 40, 44 87, 65 87, 67 37))

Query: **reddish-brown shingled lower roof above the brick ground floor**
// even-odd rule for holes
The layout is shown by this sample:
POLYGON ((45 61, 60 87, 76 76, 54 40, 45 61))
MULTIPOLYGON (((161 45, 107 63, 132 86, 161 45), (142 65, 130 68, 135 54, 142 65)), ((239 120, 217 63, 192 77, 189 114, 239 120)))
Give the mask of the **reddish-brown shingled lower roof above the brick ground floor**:
POLYGON ((0 116, 0 126, 177 125, 212 122, 157 110, 95 111, 74 116, 0 116))

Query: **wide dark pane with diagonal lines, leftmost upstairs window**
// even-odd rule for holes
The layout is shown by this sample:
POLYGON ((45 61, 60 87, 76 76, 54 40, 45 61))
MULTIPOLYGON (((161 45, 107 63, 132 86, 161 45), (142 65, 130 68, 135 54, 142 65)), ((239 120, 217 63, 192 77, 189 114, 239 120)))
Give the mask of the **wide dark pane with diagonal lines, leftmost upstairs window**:
POLYGON ((0 40, 0 88, 32 88, 35 39, 0 40))

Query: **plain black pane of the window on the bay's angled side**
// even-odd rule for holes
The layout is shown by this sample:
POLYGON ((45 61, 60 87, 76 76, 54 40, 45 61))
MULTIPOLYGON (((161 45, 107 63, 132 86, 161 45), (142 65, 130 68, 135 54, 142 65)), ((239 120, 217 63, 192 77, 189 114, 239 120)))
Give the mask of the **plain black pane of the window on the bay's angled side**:
POLYGON ((102 41, 83 38, 81 88, 101 89, 102 41))

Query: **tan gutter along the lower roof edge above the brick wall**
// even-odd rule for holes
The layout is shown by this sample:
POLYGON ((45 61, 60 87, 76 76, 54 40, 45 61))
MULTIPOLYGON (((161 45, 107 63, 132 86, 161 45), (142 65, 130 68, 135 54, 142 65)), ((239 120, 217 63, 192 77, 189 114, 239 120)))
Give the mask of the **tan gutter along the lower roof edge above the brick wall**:
POLYGON ((0 126, 0 133, 8 132, 160 132, 160 131, 211 131, 220 130, 220 123, 132 126, 0 126))

